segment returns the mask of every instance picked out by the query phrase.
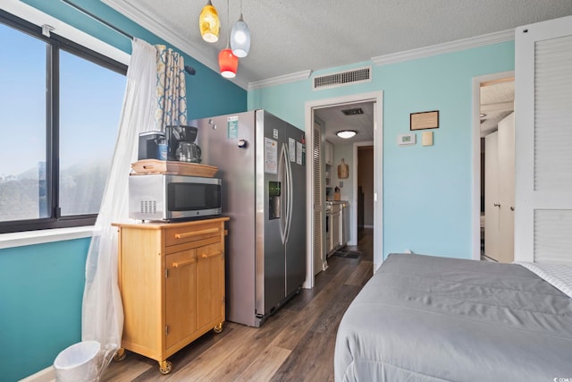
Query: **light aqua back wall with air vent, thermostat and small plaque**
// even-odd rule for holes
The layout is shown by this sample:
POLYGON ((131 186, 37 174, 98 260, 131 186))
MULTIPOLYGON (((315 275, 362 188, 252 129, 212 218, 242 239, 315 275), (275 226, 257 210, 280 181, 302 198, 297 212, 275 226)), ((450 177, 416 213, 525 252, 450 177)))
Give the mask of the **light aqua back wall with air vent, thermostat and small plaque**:
MULTIPOLYGON (((365 66, 317 72, 322 75, 365 66)), ((312 90, 311 79, 248 92, 248 108, 265 108, 305 130, 305 104, 383 90, 383 258, 391 252, 472 257, 472 79, 514 70, 514 42, 373 65, 373 81, 312 90), (439 110, 434 145, 397 146, 409 114, 439 110)))

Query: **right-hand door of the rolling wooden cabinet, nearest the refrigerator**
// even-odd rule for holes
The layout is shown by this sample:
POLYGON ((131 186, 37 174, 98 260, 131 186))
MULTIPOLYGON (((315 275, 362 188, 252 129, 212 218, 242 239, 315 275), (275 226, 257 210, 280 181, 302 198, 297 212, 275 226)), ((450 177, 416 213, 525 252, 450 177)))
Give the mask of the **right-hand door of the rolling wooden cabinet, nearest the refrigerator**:
POLYGON ((223 298, 224 256, 222 244, 216 242, 197 249, 198 328, 223 322, 223 298))

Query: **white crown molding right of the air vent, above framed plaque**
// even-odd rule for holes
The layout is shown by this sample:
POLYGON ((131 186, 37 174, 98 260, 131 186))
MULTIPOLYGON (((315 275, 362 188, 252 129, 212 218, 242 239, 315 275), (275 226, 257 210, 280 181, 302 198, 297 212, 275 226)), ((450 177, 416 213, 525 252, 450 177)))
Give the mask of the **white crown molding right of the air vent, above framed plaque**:
POLYGON ((502 30, 500 32, 486 35, 463 38, 429 47, 406 50, 404 52, 393 53, 391 55, 378 55, 372 57, 372 62, 377 65, 396 64, 404 61, 416 60, 417 58, 429 57, 431 55, 442 55, 445 53, 457 52, 458 50, 470 49, 472 47, 484 47, 486 45, 497 44, 515 39, 515 30, 502 30))

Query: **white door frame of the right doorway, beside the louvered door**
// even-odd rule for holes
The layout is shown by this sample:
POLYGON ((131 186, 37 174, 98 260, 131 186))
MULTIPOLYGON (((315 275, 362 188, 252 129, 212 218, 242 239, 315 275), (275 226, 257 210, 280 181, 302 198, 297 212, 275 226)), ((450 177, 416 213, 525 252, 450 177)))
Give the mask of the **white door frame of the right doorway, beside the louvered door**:
POLYGON ((515 71, 473 77, 473 244, 472 259, 481 259, 481 82, 515 78, 515 71))

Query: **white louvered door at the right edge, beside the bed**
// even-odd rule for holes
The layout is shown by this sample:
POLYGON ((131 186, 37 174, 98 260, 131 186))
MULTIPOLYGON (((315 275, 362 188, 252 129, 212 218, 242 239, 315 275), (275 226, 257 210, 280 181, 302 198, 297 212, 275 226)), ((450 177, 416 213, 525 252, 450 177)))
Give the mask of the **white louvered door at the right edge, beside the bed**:
POLYGON ((515 36, 515 259, 572 264, 572 16, 515 36))

